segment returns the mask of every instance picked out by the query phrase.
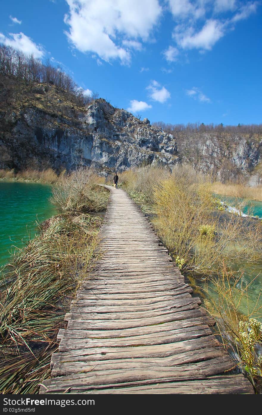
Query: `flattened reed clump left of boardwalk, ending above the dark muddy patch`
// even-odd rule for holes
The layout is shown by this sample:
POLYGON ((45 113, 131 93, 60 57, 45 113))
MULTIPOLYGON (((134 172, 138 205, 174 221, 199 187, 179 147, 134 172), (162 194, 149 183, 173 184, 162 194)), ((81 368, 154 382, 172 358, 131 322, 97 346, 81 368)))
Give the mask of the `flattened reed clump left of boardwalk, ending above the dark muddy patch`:
POLYGON ((11 265, 2 270, 3 337, 21 342, 43 332, 45 339, 51 336, 61 317, 62 299, 77 289, 88 269, 100 223, 84 214, 59 215, 39 237, 17 250, 11 265))

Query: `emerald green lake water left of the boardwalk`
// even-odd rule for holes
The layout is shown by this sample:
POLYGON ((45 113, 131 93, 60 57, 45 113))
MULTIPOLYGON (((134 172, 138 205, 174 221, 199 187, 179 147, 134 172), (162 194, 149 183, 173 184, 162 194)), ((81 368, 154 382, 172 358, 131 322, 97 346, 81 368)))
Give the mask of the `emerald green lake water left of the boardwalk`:
POLYGON ((0 181, 0 265, 7 264, 15 247, 34 238, 37 222, 57 213, 49 202, 51 186, 0 181))

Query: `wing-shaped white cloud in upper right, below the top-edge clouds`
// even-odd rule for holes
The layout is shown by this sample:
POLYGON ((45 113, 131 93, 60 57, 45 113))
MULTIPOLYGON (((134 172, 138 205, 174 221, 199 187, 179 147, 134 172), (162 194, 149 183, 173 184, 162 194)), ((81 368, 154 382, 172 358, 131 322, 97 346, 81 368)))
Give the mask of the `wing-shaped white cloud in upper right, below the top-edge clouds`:
POLYGON ((183 49, 205 49, 211 50, 212 46, 224 36, 224 24, 219 20, 207 20, 199 32, 192 28, 186 32, 175 33, 174 37, 183 49))

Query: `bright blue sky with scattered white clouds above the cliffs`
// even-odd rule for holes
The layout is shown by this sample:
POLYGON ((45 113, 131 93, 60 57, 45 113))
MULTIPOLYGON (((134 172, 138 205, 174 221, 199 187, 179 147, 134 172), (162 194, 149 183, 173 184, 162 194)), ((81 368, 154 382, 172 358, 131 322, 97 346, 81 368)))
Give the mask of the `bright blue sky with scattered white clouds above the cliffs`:
POLYGON ((151 122, 260 124, 261 23, 252 0, 9 0, 0 42, 151 122))

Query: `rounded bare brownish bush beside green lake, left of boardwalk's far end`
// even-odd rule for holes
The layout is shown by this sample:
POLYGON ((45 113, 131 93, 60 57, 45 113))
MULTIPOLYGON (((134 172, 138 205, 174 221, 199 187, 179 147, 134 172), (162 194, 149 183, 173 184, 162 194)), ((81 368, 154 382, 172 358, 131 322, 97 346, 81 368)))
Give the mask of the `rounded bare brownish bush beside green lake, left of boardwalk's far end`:
POLYGON ((63 175, 53 186, 51 202, 64 211, 98 212, 106 208, 109 192, 94 168, 79 167, 63 175))

